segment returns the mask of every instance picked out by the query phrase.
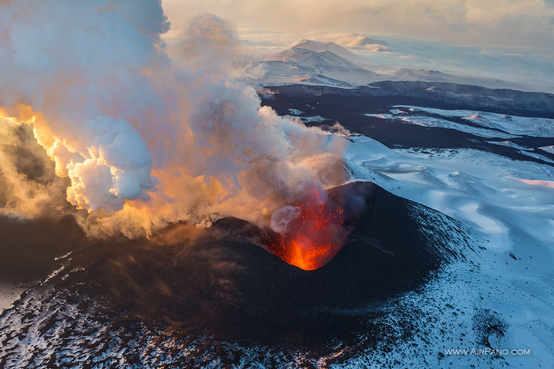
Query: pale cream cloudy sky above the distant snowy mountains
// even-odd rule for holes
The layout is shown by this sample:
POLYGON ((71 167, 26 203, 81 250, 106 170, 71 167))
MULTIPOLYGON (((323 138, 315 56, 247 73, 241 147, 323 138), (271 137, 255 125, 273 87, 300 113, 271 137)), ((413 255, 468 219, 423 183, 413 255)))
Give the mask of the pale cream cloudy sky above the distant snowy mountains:
POLYGON ((554 48, 554 0, 163 0, 162 6, 172 33, 199 12, 211 12, 267 42, 334 30, 466 46, 554 48))

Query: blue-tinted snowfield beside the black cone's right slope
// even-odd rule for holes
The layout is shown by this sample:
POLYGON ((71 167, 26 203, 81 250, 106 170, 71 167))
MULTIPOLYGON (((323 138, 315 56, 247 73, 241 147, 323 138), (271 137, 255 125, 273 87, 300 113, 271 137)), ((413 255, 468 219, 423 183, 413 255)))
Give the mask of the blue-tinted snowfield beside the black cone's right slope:
MULTIPOLYGON (((461 114, 465 115, 465 114, 461 114)), ((474 230, 479 246, 475 264, 450 265, 421 294, 407 294, 391 309, 421 309, 436 321, 425 337, 386 354, 411 366, 469 367, 523 365, 548 368, 554 363, 554 168, 514 161, 480 150, 392 150, 365 136, 352 136, 346 153, 353 177, 439 210, 474 230), (438 313, 440 312, 440 314, 438 313), (481 314, 506 324, 505 334, 487 337, 503 359, 490 354, 448 354, 477 349, 474 336, 481 314), (420 342, 422 341, 422 342, 420 342), (404 347, 405 346, 405 347, 404 347), (511 354, 511 350, 530 350, 511 354), (402 359, 404 358, 404 359, 402 359), (452 363, 450 365, 449 363, 452 363)), ((374 363, 382 353, 367 352, 352 366, 374 363)))

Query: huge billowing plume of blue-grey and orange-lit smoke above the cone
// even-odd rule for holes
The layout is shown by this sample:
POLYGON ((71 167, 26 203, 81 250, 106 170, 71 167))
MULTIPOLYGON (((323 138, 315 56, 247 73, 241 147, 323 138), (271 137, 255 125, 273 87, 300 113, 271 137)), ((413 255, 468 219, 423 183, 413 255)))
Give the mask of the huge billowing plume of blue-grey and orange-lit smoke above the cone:
MULTIPOLYGON (((277 116, 233 80, 233 26, 200 15, 171 57, 168 29, 157 0, 0 3, 0 124, 32 127, 88 231, 134 236, 224 215, 267 224, 345 180, 347 140, 277 116)), ((13 155, 0 159, 3 177, 30 186, 13 155)), ((31 191, 37 206, 52 206, 54 183, 31 191)), ((17 187, 6 196, 24 196, 17 187)), ((23 198, 4 203, 36 213, 23 198)))

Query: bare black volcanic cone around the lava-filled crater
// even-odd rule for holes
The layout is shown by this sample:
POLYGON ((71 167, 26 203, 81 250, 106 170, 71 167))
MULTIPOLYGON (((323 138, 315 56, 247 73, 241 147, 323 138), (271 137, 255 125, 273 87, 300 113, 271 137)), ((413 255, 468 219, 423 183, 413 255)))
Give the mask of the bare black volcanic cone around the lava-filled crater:
POLYGON ((329 198, 342 201, 352 231, 315 271, 258 246, 263 230, 224 218, 202 230, 175 224, 151 240, 97 242, 73 256, 74 272, 54 288, 103 296, 111 311, 195 332, 306 334, 322 319, 343 325, 337 310, 379 305, 417 289, 444 262, 463 258, 449 246, 462 228, 434 210, 369 182, 334 188, 329 198))

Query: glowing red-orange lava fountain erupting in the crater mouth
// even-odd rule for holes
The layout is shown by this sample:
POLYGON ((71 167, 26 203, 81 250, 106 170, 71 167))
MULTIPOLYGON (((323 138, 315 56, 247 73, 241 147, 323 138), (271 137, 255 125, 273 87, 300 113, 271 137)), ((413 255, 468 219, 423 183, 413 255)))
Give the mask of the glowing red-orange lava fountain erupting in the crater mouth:
POLYGON ((296 206, 301 209, 300 217, 269 249, 284 262, 298 268, 321 268, 339 252, 346 241, 347 232, 342 227, 343 210, 326 205, 316 189, 305 204, 296 206))

